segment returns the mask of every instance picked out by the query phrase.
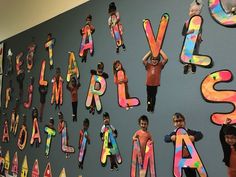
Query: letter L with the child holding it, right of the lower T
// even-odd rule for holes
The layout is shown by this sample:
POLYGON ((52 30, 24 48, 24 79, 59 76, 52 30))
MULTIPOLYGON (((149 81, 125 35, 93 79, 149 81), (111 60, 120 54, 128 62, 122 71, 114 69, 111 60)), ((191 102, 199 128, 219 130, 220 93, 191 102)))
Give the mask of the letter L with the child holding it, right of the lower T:
POLYGON ((58 116, 58 132, 61 133, 61 150, 66 153, 66 158, 68 158, 69 153, 74 153, 75 149, 74 147, 68 145, 67 125, 66 121, 64 121, 64 116, 62 112, 59 112, 58 116))

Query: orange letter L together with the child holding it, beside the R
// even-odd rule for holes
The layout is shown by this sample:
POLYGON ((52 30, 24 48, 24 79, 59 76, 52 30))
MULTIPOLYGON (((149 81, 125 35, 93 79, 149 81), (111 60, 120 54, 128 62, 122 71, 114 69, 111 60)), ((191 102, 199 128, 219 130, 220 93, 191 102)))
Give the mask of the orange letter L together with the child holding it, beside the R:
POLYGON ((117 84, 118 104, 120 107, 129 109, 133 106, 138 106, 140 101, 136 97, 129 97, 128 93, 128 78, 125 70, 119 60, 113 63, 114 82, 117 84))

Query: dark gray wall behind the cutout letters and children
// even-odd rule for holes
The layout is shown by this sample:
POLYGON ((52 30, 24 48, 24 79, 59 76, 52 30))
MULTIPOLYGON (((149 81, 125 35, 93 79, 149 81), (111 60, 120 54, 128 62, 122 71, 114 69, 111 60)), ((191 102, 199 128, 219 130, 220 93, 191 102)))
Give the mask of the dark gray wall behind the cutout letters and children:
MULTIPOLYGON (((78 102, 78 122, 73 123, 71 114, 71 99, 70 93, 65 89, 64 83, 64 103, 61 108, 67 120, 69 129, 69 144, 73 145, 76 153, 71 155, 69 159, 65 158, 65 154, 61 151, 61 135, 57 133, 51 144, 51 153, 49 159, 44 156, 46 134, 43 132, 43 127, 48 123, 49 117, 55 118, 55 126, 58 123, 57 111, 54 106, 50 105, 51 84, 49 84, 49 92, 47 94, 47 102, 44 111, 44 121, 40 123, 42 143, 40 148, 31 147, 29 138, 31 136, 31 110, 26 110, 23 105, 20 105, 20 115, 27 114, 28 125, 28 142, 26 148, 20 151, 17 148, 17 137, 10 135, 9 143, 1 143, 3 154, 7 149, 10 150, 11 159, 14 152, 18 151, 19 169, 23 162, 24 155, 28 156, 29 171, 34 163, 35 158, 39 159, 39 168, 41 175, 46 167, 46 162, 51 162, 52 172, 54 176, 58 176, 63 167, 66 168, 67 176, 74 177, 79 174, 84 177, 102 177, 102 176, 129 176, 131 165, 132 151, 132 136, 139 129, 137 119, 142 114, 146 114, 150 119, 149 130, 155 141, 155 160, 156 171, 159 177, 172 176, 172 161, 174 147, 172 144, 166 144, 163 141, 165 134, 173 130, 172 115, 175 112, 181 112, 186 116, 187 127, 195 130, 200 130, 204 134, 204 138, 196 143, 196 148, 201 156, 201 159, 207 169, 209 176, 222 177, 226 176, 226 167, 222 163, 222 150, 218 138, 218 126, 210 122, 210 115, 216 111, 231 111, 232 106, 228 104, 211 104, 206 103, 200 93, 200 84, 204 77, 216 70, 227 68, 234 74, 235 71, 235 29, 226 28, 217 24, 210 16, 205 0, 205 6, 202 11, 204 19, 203 24, 203 42, 201 44, 200 53, 207 54, 214 60, 214 67, 211 69, 197 68, 196 74, 183 74, 183 65, 179 62, 179 53, 181 51, 184 38, 181 36, 181 31, 184 22, 188 19, 188 8, 191 0, 119 0, 115 1, 117 9, 120 12, 121 22, 124 26, 124 41, 127 47, 125 52, 120 54, 115 53, 114 40, 110 36, 110 31, 107 26, 107 9, 110 1, 90 1, 78 8, 53 18, 43 24, 40 24, 32 29, 29 29, 19 35, 16 35, 5 42, 5 59, 8 48, 11 48, 16 54, 23 51, 24 57, 27 53, 27 45, 31 42, 32 37, 35 38, 37 51, 35 54, 35 66, 33 71, 26 73, 24 82, 24 100, 27 96, 27 86, 31 75, 35 76, 35 90, 33 95, 33 106, 39 106, 38 93, 38 78, 41 60, 47 58, 47 52, 44 49, 44 42, 47 38, 47 33, 51 32, 56 38, 54 47, 55 67, 61 67, 62 75, 66 78, 68 51, 74 51, 79 63, 81 73, 81 88, 79 89, 78 102), (169 62, 162 73, 161 87, 158 89, 157 104, 155 113, 146 112, 146 71, 142 65, 141 59, 149 50, 147 40, 142 27, 142 20, 149 18, 156 33, 159 26, 160 18, 163 13, 169 13, 170 21, 167 29, 166 37, 162 49, 167 53, 169 62), (93 35, 95 43, 95 54, 93 57, 88 57, 87 63, 81 63, 78 58, 78 50, 80 47, 81 35, 80 28, 85 23, 85 17, 91 13, 93 16, 93 24, 96 31, 93 35), (126 69, 129 78, 129 92, 131 96, 136 96, 140 99, 141 105, 129 111, 126 111, 118 106, 117 103, 117 88, 113 83, 112 63, 115 59, 120 59, 126 69), (109 161, 107 167, 103 168, 100 165, 101 140, 99 138, 100 128, 102 126, 102 115, 90 115, 85 109, 85 99, 89 86, 90 69, 95 69, 99 61, 105 64, 105 71, 109 74, 107 80, 107 91, 102 96, 103 111, 107 111, 111 116, 111 124, 118 130, 117 142, 123 157, 123 163, 119 166, 118 172, 109 170, 109 161), (84 170, 78 169, 78 135, 82 128, 84 118, 90 119, 90 136, 91 145, 87 148, 87 154, 84 162, 84 170)), ((42 12, 47 13, 47 12, 42 12)), ((29 14, 30 15, 30 14, 29 14)), ((40 14, 39 14, 40 15, 40 14)), ((19 22, 20 23, 20 22, 19 22)), ((15 62, 15 61, 14 61, 15 62)), ((25 65, 24 65, 25 67, 25 65)), ((47 60, 46 79, 50 82, 55 71, 49 71, 47 60)), ((4 78, 2 98, 5 98, 6 83, 9 79, 13 80, 14 96, 10 103, 10 108, 7 110, 8 120, 10 121, 10 113, 15 105, 14 98, 18 95, 18 85, 15 80, 15 73, 4 78)), ((235 82, 220 84, 218 89, 234 89, 235 82)), ((0 120, 1 126, 3 119, 0 120)), ((22 124, 22 120, 20 124, 22 124)), ((19 133, 19 129, 18 129, 19 133)), ((2 136, 2 131, 0 132, 2 136)), ((18 134, 17 134, 18 136, 18 134)))

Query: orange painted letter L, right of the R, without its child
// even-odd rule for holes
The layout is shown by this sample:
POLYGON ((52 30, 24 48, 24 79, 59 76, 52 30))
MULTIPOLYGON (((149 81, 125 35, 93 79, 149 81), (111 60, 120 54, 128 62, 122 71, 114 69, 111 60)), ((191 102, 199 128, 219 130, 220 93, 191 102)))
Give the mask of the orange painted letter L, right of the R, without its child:
MULTIPOLYGON (((124 71, 120 70, 117 72, 117 80, 124 80, 125 73, 124 71)), ((140 101, 136 97, 127 98, 127 83, 118 83, 118 104, 122 108, 129 109, 133 106, 138 106, 140 104, 140 101)))

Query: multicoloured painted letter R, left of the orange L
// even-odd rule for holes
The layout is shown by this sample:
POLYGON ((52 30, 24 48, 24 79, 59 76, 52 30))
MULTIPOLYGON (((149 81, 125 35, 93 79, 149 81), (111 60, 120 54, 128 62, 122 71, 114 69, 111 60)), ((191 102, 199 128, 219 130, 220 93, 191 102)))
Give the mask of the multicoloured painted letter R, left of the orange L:
POLYGON ((102 103, 100 100, 100 96, 102 96, 105 93, 106 87, 107 84, 105 78, 95 74, 91 75, 90 86, 88 89, 88 95, 86 99, 86 107, 88 109, 92 106, 94 100, 97 111, 98 112, 102 111, 102 103), (97 85, 99 86, 97 87, 97 85))

